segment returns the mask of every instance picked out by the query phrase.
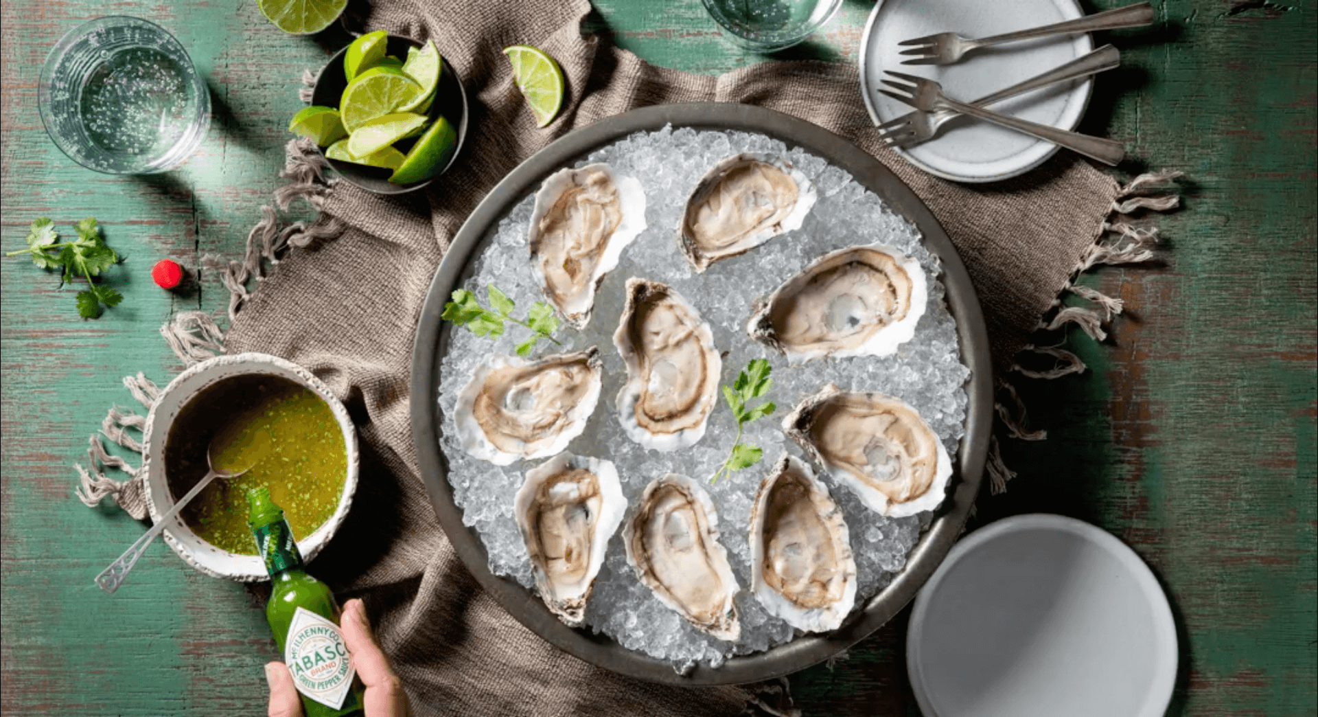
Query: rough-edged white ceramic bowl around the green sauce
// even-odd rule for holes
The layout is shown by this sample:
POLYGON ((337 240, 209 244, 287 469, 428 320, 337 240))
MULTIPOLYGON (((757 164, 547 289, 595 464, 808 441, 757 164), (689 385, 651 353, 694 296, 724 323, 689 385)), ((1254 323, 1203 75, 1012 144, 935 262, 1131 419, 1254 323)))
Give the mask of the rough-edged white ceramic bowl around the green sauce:
MULTIPOLYGON (((339 428, 343 431, 343 442, 347 447, 348 474, 344 478, 343 494, 333 515, 330 517, 311 535, 298 540, 298 551, 302 558, 310 561, 320 548, 333 538, 335 531, 348 515, 352 506, 352 494, 357 489, 357 430, 348 418, 348 410, 343 407, 330 393, 319 378, 307 369, 266 353, 239 353, 236 356, 216 356, 185 370, 174 377, 161 391, 159 401, 152 407, 146 416, 146 426, 142 428, 145 444, 142 447, 142 471, 146 476, 146 506, 150 510, 152 521, 159 522, 170 507, 174 506, 174 496, 169 490, 169 481, 165 474, 165 442, 169 438, 169 428, 178 416, 179 410, 187 405, 203 389, 225 378, 235 376, 278 376, 298 385, 311 389, 333 411, 339 428)), ((210 575, 212 577, 227 577, 250 583, 254 580, 269 580, 265 564, 254 555, 236 555, 220 550, 196 536, 181 517, 165 529, 165 542, 185 563, 210 575)))

